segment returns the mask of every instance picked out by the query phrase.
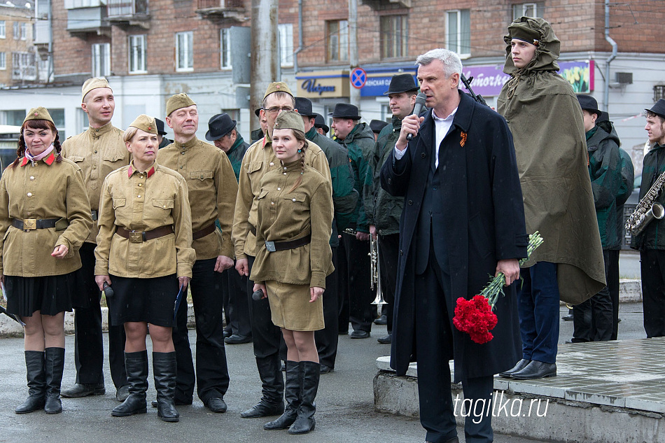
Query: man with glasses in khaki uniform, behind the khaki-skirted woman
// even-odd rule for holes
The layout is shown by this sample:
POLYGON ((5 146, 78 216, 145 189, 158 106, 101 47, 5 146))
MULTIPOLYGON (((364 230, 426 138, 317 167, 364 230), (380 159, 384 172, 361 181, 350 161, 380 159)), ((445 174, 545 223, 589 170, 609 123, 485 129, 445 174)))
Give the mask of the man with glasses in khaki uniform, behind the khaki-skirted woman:
MULTIPOLYGON (((265 118, 267 123, 265 136, 248 148, 240 167, 238 198, 233 218, 233 243, 237 259, 236 269, 241 275, 249 276, 258 251, 255 232, 261 178, 268 171, 281 167, 272 150, 272 128, 281 111, 294 110, 295 97, 288 85, 283 82, 270 83, 263 96, 263 108, 260 110, 261 119, 265 118)), ((309 142, 304 162, 330 180, 328 160, 316 143, 309 142)), ((249 419, 280 415, 284 412, 284 379, 279 360, 281 331, 272 323, 267 298, 252 300, 254 282, 247 279, 247 283, 254 356, 262 381, 262 398, 257 405, 240 416, 249 419)))

